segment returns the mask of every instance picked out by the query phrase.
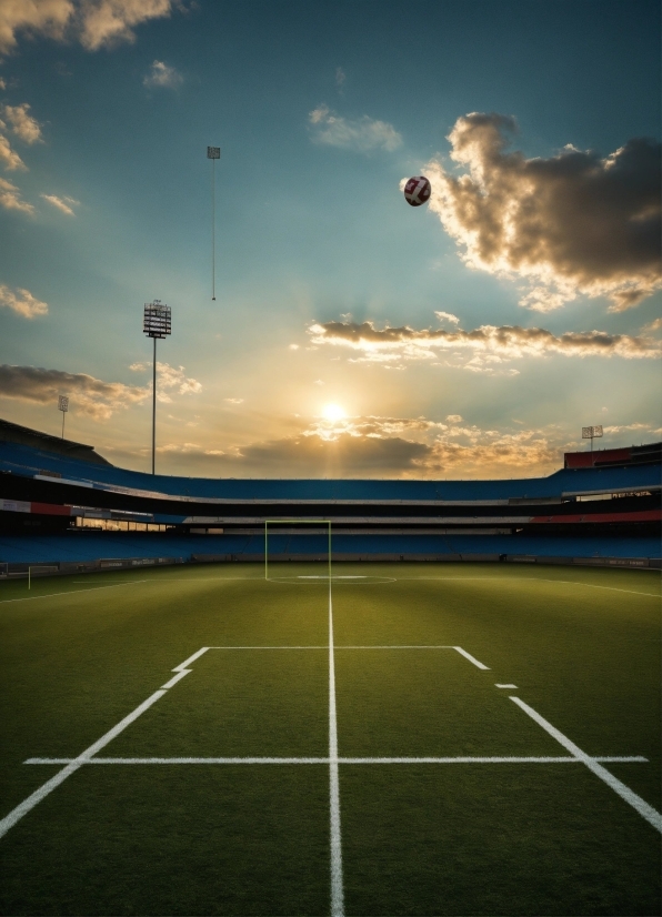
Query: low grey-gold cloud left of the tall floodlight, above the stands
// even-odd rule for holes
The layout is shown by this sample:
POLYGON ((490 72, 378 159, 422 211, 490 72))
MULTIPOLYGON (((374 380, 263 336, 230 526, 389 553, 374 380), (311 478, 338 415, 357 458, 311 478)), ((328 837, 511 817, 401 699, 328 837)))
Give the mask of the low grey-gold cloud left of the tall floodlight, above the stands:
POLYGON ((0 365, 0 397, 48 404, 63 392, 71 397, 73 410, 96 420, 108 420, 116 411, 150 396, 149 389, 103 382, 86 373, 0 365))

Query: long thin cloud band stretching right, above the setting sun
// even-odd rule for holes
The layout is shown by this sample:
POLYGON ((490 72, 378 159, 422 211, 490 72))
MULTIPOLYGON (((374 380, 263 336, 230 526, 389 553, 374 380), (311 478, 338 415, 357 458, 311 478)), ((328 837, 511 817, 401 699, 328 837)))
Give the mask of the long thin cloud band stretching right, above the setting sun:
POLYGON ((439 359, 439 351, 451 351, 448 365, 473 372, 494 374, 518 371, 503 369, 510 360, 524 356, 621 356, 628 360, 662 356, 662 344, 648 336, 608 334, 604 331, 569 331, 560 335, 542 328, 520 325, 481 325, 462 329, 422 329, 408 325, 377 329, 373 322, 327 322, 309 329, 312 342, 320 346, 343 346, 360 352, 360 362, 420 361, 439 359))

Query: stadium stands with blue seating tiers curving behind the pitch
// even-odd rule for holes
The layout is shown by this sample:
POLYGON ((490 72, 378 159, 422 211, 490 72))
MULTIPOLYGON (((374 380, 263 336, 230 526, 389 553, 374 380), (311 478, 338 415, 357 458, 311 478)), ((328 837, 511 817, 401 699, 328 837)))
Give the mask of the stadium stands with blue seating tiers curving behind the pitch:
POLYGON ((603 453, 500 481, 217 480, 119 468, 0 422, 0 564, 259 561, 265 521, 270 557, 315 560, 331 521, 338 560, 659 565, 660 444, 603 453))

